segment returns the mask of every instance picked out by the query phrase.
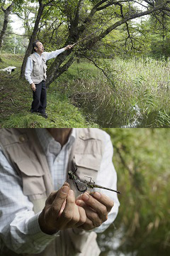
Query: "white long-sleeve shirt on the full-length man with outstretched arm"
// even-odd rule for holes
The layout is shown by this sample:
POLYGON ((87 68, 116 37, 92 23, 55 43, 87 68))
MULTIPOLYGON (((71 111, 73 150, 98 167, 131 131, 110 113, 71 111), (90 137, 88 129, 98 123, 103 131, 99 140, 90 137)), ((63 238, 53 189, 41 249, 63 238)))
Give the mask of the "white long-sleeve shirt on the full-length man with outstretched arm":
MULTIPOLYGON (((51 58, 56 58, 57 55, 60 53, 63 53, 65 48, 59 49, 59 50, 54 50, 50 53, 44 52, 42 53, 43 57, 45 57, 45 60, 50 60, 51 58)), ((39 55, 38 53, 34 53, 36 58, 38 59, 39 65, 42 64, 42 55, 39 55)), ((33 80, 31 79, 30 75, 33 72, 33 60, 28 57, 27 63, 26 63, 26 71, 25 71, 25 77, 26 80, 29 82, 29 84, 33 83, 33 80)))

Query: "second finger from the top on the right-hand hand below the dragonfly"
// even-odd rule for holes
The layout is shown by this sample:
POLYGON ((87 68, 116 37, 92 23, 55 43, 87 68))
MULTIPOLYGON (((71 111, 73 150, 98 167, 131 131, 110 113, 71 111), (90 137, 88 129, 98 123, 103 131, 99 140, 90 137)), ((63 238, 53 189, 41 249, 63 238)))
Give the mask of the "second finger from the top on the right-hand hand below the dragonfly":
POLYGON ((81 195, 81 200, 84 201, 88 206, 90 206, 93 210, 98 213, 98 216, 101 220, 105 221, 108 218, 108 210, 103 203, 100 203, 94 198, 90 196, 89 193, 84 193, 81 195))

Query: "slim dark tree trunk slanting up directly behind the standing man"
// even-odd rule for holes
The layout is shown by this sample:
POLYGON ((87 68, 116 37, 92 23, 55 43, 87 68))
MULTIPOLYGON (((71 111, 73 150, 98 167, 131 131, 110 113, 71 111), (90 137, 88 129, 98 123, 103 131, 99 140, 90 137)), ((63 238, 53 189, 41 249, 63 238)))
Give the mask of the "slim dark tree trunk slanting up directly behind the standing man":
POLYGON ((29 41, 29 44, 28 44, 28 48, 26 50, 26 54, 24 56, 23 64, 22 64, 22 67, 21 67, 21 78, 25 78, 25 70, 26 70, 27 59, 28 59, 29 55, 31 54, 31 52, 33 50, 33 42, 35 41, 35 38, 37 36, 38 26, 39 26, 39 23, 40 23, 42 12, 43 12, 44 7, 45 7, 45 5, 42 4, 42 1, 39 1, 39 4, 40 4, 40 6, 39 6, 39 9, 38 9, 38 16, 35 20, 35 26, 34 26, 34 29, 33 29, 33 33, 30 36, 30 41, 29 41))

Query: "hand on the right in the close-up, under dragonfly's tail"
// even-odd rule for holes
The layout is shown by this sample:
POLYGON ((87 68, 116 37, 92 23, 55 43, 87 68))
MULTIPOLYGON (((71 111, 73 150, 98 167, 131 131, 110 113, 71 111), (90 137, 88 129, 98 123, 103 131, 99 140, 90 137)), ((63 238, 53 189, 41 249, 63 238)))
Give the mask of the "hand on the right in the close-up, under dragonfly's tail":
POLYGON ((84 230, 91 230, 100 226, 108 219, 108 213, 114 206, 114 202, 110 198, 98 192, 95 192, 93 196, 86 192, 78 198, 76 203, 86 212, 85 223, 78 227, 84 230))

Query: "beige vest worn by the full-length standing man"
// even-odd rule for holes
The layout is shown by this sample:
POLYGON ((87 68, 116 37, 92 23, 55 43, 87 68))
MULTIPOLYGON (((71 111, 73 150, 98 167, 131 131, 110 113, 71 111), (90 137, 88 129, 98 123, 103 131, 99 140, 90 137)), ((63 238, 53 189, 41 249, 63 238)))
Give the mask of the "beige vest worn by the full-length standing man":
POLYGON ((35 53, 31 54, 30 58, 33 60, 33 71, 30 77, 35 84, 38 84, 42 80, 47 79, 47 75, 46 75, 47 65, 46 65, 45 56, 42 53, 42 65, 39 65, 38 58, 36 57, 35 53))

